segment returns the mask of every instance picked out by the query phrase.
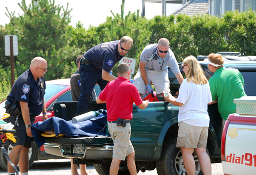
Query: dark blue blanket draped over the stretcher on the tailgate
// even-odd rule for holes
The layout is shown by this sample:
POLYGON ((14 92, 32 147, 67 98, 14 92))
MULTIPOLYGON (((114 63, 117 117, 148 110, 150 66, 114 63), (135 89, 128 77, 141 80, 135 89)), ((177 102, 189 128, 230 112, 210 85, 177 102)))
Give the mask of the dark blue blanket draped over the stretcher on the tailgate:
POLYGON ((45 131, 54 131, 56 136, 60 133, 68 137, 104 136, 106 135, 105 126, 106 111, 103 111, 98 117, 77 123, 72 123, 72 120, 66 121, 62 118, 51 117, 45 121, 38 121, 32 124, 31 131, 35 143, 40 147, 47 139, 41 136, 41 133, 45 131))

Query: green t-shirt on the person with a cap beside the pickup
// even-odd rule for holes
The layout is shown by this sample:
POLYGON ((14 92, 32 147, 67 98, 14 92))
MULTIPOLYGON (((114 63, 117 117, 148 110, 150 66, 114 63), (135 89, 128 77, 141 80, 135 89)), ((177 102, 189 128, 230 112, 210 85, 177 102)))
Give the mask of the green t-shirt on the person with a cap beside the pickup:
POLYGON ((226 120, 229 114, 236 113, 234 98, 246 96, 244 92, 244 78, 238 69, 224 66, 214 72, 209 79, 212 101, 218 99, 221 117, 226 120))

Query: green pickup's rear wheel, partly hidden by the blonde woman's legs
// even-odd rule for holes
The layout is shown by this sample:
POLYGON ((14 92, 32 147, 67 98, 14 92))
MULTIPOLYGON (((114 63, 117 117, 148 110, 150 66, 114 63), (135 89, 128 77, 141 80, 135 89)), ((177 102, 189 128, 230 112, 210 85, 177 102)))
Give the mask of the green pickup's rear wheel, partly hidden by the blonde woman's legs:
MULTIPOLYGON (((159 175, 187 174, 184 167, 181 150, 176 148, 177 138, 174 137, 167 139, 167 142, 163 146, 161 159, 156 162, 157 173, 159 175)), ((203 172, 195 151, 193 153, 193 157, 196 162, 196 175, 202 175, 203 172)))

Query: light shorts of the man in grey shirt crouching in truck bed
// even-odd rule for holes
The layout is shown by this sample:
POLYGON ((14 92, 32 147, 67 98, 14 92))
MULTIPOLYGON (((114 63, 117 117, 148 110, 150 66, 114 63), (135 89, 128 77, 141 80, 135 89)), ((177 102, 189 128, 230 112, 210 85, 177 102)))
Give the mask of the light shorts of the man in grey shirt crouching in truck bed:
MULTIPOLYGON (((163 91, 170 92, 170 82, 169 82, 167 70, 164 70, 164 71, 146 70, 146 77, 147 77, 148 83, 154 84, 157 94, 160 94, 163 91)), ((144 80, 141 77, 139 70, 136 73, 136 76, 134 77, 133 84, 136 86, 139 93, 145 95, 146 85, 144 80)))

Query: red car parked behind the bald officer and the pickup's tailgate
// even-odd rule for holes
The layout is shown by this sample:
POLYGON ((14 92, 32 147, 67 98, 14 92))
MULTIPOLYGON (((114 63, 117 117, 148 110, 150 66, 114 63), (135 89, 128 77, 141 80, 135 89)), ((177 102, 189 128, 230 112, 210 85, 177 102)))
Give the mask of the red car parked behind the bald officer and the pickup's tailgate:
MULTIPOLYGON (((95 91, 97 96, 99 95, 99 86, 95 86, 95 91)), ((48 118, 52 115, 52 108, 55 102, 68 102, 72 101, 71 91, 70 91, 70 79, 58 79, 46 81, 46 94, 45 94, 45 103, 48 118)), ((0 104, 0 107, 5 106, 5 101, 0 104)), ((41 121, 42 114, 35 117, 35 122, 41 121)), ((6 148, 8 154, 12 149, 12 145, 3 144, 6 148)), ((29 166, 35 160, 46 160, 46 159, 58 159, 62 157, 49 155, 45 152, 44 145, 38 147, 34 141, 32 141, 32 147, 29 149, 29 166)), ((0 166, 7 170, 7 160, 3 154, 0 152, 0 166)))

